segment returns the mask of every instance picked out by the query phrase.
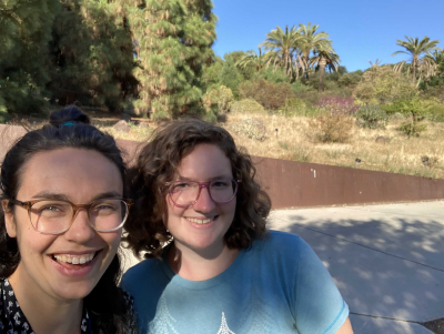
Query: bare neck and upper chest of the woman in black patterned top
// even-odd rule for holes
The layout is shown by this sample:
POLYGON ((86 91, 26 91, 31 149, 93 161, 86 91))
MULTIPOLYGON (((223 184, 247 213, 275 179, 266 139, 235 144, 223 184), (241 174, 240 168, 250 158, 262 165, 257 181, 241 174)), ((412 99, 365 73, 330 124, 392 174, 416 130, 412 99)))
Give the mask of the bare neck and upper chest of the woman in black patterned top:
POLYGON ((83 301, 53 298, 39 289, 31 277, 22 275, 21 272, 22 263, 8 281, 33 333, 79 334, 83 301))

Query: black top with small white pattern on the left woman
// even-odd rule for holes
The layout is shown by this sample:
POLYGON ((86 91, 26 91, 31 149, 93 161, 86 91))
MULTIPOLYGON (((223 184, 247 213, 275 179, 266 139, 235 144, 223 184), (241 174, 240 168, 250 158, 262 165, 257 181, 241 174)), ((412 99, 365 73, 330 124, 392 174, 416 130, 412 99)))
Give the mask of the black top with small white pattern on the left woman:
MULTIPOLYGON (((91 334, 91 322, 88 311, 83 308, 81 333, 91 334)), ((31 325, 20 308, 8 279, 0 279, 0 333, 34 334, 31 325)))

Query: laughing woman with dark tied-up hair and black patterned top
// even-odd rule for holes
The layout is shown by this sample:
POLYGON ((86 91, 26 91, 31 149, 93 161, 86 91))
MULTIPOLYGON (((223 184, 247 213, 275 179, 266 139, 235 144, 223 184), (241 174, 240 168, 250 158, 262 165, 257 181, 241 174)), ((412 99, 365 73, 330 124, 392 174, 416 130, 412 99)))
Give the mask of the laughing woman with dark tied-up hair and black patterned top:
POLYGON ((111 135, 74 107, 8 151, 0 190, 0 333, 134 333, 117 254, 130 202, 111 135))

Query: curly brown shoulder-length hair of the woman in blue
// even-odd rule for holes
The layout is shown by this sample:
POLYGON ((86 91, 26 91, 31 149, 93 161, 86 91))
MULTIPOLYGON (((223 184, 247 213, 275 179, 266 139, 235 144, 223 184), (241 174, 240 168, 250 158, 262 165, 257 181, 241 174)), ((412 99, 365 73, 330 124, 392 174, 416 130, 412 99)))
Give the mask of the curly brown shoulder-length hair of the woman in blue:
POLYGON ((224 239, 230 249, 248 249, 265 232, 271 209, 269 195, 254 180, 256 170, 250 155, 238 149, 231 134, 201 120, 185 119, 168 123, 154 132, 141 149, 135 166, 129 171, 130 196, 134 205, 125 222, 125 241, 134 254, 159 257, 172 235, 163 220, 167 212, 168 183, 176 176, 184 156, 199 144, 214 144, 231 162, 233 178, 241 180, 233 223, 224 239))

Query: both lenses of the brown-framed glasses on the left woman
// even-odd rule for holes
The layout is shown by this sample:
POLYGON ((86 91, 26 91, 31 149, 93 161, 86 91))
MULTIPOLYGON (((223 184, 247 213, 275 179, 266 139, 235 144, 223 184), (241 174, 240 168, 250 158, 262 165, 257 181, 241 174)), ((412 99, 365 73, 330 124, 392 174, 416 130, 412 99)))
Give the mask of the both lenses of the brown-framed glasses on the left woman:
MULTIPOLYGON (((34 229, 43 233, 65 231, 73 219, 74 210, 64 201, 39 201, 31 206, 30 219, 34 229)), ((117 229, 128 214, 128 205, 122 200, 100 200, 89 209, 90 223, 97 231, 117 229)))

